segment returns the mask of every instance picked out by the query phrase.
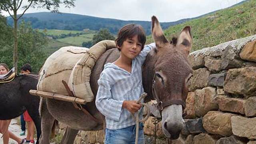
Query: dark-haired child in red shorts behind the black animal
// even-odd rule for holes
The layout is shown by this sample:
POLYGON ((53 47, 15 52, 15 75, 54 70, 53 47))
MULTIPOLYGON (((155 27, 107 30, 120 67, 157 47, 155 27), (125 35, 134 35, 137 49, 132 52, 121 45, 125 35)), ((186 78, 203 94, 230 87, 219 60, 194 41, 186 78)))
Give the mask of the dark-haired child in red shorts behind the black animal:
MULTIPOLYGON (((31 68, 30 64, 24 64, 20 68, 20 73, 22 73, 22 74, 30 74, 31 72, 32 72, 32 68, 31 68)), ((34 144, 35 143, 34 142, 35 125, 34 125, 34 122, 33 122, 32 118, 28 114, 28 110, 26 110, 24 112, 24 120, 28 124, 28 133, 27 133, 27 136, 26 136, 26 143, 34 144)))

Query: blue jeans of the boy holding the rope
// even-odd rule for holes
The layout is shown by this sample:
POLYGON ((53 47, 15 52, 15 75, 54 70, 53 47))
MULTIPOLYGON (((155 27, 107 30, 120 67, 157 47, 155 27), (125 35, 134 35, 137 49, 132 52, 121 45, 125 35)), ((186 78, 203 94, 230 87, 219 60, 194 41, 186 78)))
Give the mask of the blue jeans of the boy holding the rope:
MULTIPOLYGON (((143 123, 139 124, 138 144, 144 144, 143 123)), ((135 144, 136 125, 117 130, 106 128, 104 144, 135 144)))

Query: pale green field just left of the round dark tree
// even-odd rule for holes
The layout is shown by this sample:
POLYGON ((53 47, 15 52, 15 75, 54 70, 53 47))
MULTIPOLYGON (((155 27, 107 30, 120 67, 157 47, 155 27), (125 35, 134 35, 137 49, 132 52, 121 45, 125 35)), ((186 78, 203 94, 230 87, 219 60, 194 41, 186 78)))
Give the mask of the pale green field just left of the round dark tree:
POLYGON ((57 39, 56 41, 65 42, 68 44, 72 44, 74 46, 82 46, 83 42, 88 42, 88 41, 92 40, 94 34, 95 33, 90 33, 90 34, 82 34, 80 36, 71 36, 71 37, 67 37, 67 38, 60 38, 60 39, 57 39))

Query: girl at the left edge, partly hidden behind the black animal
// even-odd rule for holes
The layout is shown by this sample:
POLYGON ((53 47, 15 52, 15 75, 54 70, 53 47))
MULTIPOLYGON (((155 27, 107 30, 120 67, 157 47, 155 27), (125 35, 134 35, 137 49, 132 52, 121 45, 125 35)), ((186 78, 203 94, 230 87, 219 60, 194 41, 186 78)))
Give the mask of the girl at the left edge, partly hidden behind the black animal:
MULTIPOLYGON (((9 72, 9 68, 7 64, 0 63, 0 75, 7 74, 9 72)), ((0 133, 3 135, 3 143, 9 144, 9 138, 18 142, 18 144, 25 144, 26 140, 19 138, 15 134, 9 131, 8 127, 11 123, 11 120, 0 120, 0 133)))

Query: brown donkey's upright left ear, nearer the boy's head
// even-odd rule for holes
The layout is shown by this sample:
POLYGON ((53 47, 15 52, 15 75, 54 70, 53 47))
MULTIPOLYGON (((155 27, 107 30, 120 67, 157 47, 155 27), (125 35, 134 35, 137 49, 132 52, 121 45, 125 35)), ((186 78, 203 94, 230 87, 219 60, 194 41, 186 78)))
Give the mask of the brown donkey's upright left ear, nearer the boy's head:
POLYGON ((151 20, 152 20, 152 29, 151 29, 152 36, 156 42, 156 47, 159 49, 164 47, 164 45, 169 44, 169 42, 164 37, 164 32, 156 16, 152 16, 151 20))

